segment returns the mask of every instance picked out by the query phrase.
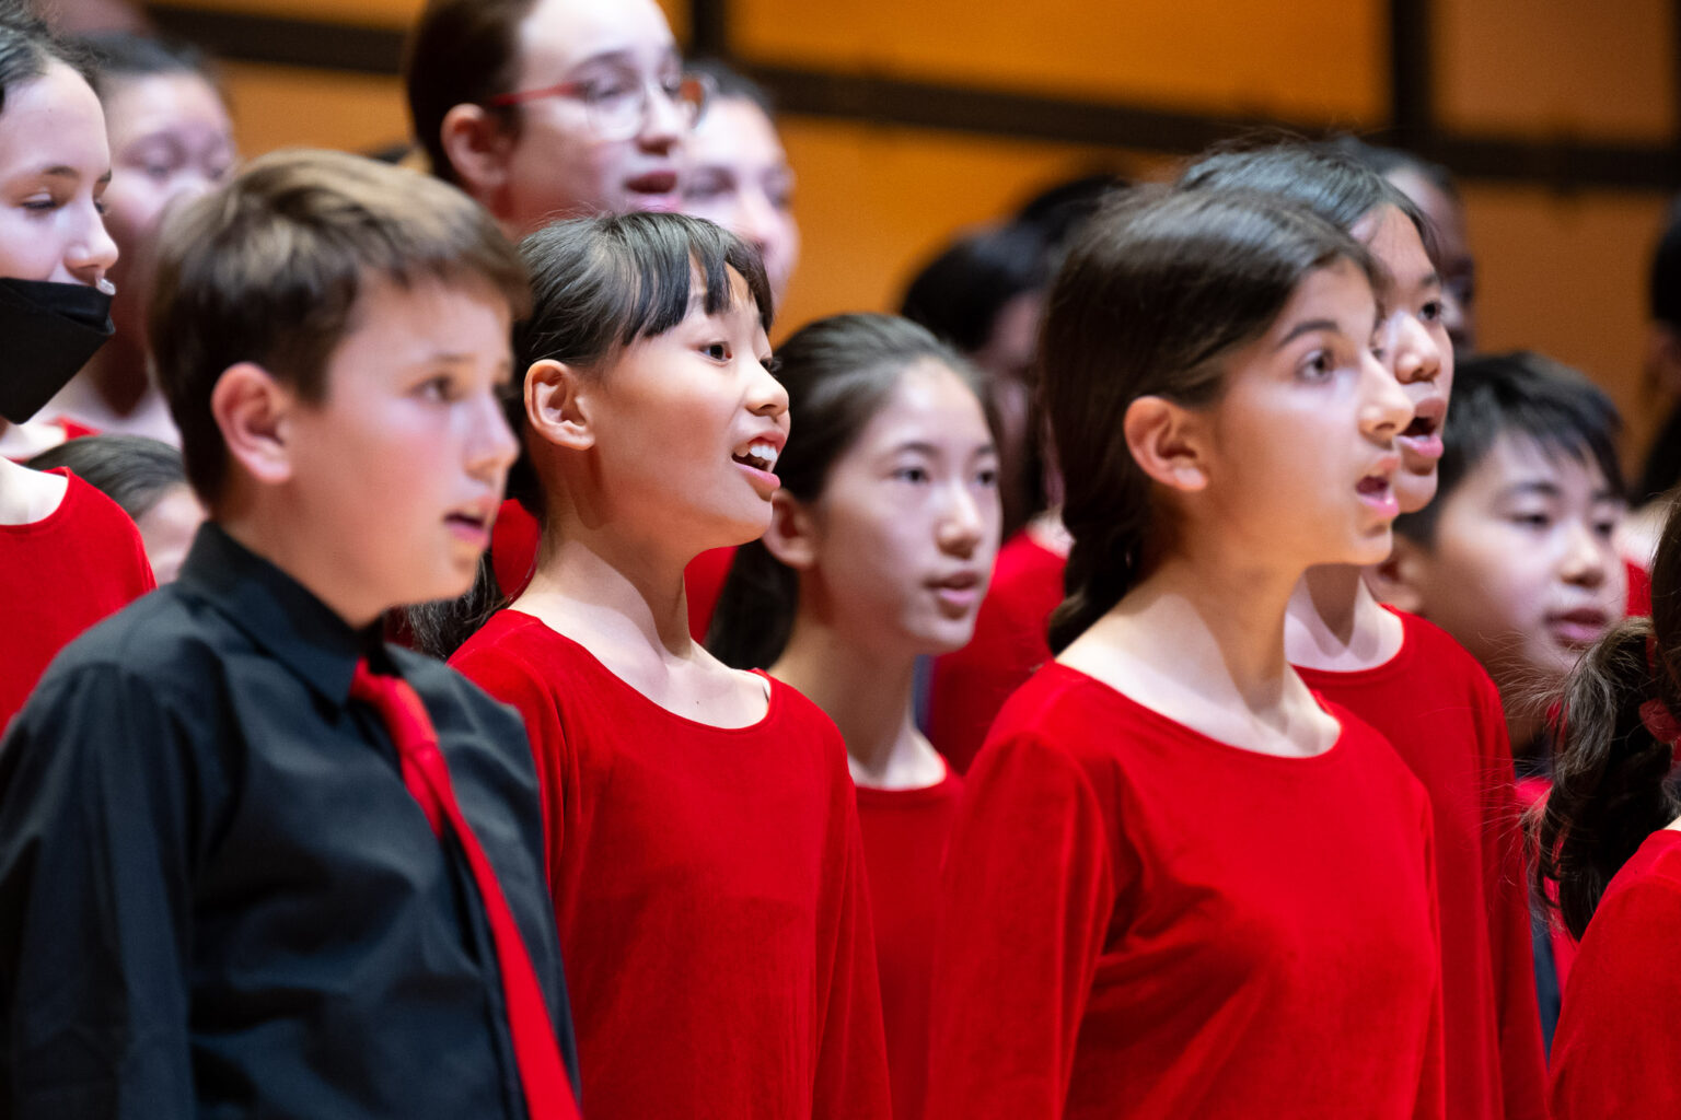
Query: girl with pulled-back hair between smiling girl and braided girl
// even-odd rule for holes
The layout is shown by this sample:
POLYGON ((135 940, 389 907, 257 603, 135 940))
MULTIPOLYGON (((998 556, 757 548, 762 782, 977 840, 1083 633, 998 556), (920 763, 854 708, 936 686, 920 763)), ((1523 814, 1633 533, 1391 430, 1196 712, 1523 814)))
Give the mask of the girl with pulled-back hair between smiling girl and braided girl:
POLYGON ((871 880, 893 1115, 923 1115, 940 860, 960 782, 916 730, 916 658, 968 641, 999 547, 999 452, 968 364, 908 319, 819 319, 778 349, 800 418, 770 531, 713 620, 840 727, 871 880))

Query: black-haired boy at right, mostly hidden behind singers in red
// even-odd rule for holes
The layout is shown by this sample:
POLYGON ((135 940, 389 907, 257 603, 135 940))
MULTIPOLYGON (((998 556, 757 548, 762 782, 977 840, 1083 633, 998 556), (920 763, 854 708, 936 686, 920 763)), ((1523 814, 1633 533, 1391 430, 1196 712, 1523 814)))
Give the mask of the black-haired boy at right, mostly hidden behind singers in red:
MULTIPOLYGON (((1372 573, 1380 598, 1446 630, 1494 678, 1525 803, 1547 789, 1548 700, 1624 613, 1617 428, 1604 391, 1540 354, 1461 359, 1436 500, 1395 521, 1395 551, 1372 573)), ((1535 915, 1550 1044, 1573 944, 1535 915)))

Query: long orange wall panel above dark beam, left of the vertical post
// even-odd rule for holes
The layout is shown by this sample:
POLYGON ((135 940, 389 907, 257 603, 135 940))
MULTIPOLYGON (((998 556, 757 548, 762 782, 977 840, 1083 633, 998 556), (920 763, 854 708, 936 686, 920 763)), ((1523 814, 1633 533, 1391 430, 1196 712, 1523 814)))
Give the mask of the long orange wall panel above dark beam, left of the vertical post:
POLYGON ((1382 0, 731 0, 735 49, 884 72, 1304 123, 1382 121, 1382 0))

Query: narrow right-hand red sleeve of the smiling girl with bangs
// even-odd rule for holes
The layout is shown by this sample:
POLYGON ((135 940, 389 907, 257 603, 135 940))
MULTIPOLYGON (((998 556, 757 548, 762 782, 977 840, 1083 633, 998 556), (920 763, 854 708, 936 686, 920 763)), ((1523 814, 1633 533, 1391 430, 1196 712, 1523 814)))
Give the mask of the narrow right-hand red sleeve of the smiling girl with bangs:
MULTIPOLYGON (((839 746, 839 744, 837 744, 839 746)), ((852 804, 852 782, 837 776, 842 841, 835 887, 835 920, 825 947, 829 960, 822 1006, 822 1041, 812 1085, 812 1120, 886 1120, 893 1115, 888 1088, 888 1041, 881 1024, 881 984, 876 979, 876 934, 864 878, 864 841, 852 804)))

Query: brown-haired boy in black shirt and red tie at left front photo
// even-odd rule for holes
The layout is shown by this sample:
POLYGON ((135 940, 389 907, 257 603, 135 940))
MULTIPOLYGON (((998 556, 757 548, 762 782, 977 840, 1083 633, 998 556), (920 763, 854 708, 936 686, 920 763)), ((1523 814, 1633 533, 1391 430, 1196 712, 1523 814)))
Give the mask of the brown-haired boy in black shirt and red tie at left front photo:
POLYGON ((306 151, 160 255, 210 522, 0 746, 0 1112, 575 1117, 524 730, 378 640, 487 541, 519 260, 454 188, 306 151))

